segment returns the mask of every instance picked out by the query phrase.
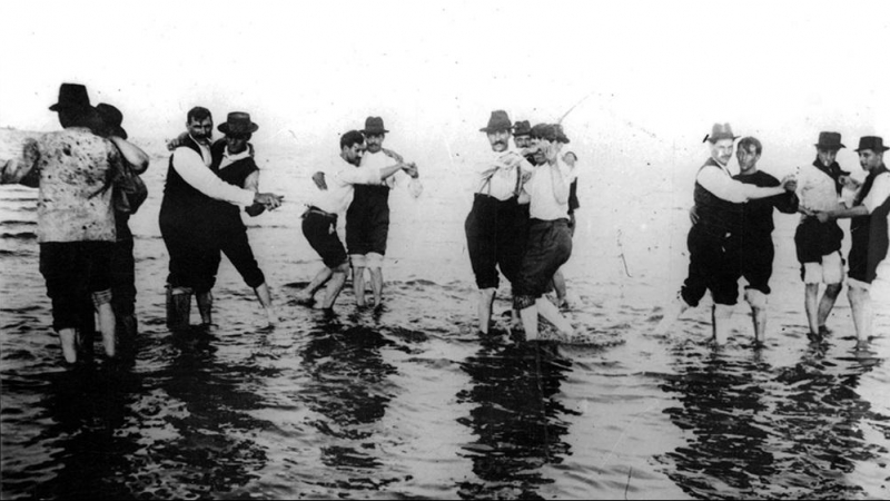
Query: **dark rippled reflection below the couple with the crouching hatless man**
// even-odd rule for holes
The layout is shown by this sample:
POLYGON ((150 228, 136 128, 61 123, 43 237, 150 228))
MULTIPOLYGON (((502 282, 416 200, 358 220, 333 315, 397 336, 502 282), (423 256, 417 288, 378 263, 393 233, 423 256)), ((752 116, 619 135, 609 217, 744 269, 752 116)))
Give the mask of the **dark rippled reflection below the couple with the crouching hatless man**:
POLYGON ((380 355, 386 346, 394 343, 366 326, 330 322, 309 334, 301 356, 310 382, 299 393, 320 414, 312 424, 328 439, 322 462, 333 474, 318 475, 319 485, 366 490, 389 483, 379 478, 385 458, 377 426, 394 396, 388 377, 397 372, 380 355))

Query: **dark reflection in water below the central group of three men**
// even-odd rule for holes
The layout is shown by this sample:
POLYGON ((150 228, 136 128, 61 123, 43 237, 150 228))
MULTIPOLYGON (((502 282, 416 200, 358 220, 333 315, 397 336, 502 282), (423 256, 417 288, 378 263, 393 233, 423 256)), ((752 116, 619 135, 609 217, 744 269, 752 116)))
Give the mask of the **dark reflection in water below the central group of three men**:
POLYGON ((457 397, 476 406, 458 422, 478 436, 464 449, 481 482, 463 482, 459 495, 540 498, 537 488, 552 480, 537 470, 570 453, 561 440, 567 432, 561 416, 574 411, 553 399, 570 362, 551 344, 483 344, 462 367, 473 387, 457 397))

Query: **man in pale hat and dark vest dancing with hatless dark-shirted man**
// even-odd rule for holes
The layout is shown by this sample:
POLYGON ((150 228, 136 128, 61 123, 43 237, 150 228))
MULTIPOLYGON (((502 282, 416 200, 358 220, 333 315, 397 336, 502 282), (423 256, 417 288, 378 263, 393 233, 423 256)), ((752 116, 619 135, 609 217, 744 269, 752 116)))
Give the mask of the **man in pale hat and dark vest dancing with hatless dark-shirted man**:
POLYGON ((778 187, 759 187, 732 179, 726 165, 732 158, 736 138, 729 124, 714 124, 705 137, 711 155, 695 176, 693 196, 699 219, 686 238, 689 275, 680 289, 679 301, 665 312, 656 327, 657 333, 666 333, 676 317, 698 306, 710 291, 714 301, 713 341, 716 345, 728 341, 729 320, 739 296, 742 204, 793 191, 797 187, 790 176, 778 187))

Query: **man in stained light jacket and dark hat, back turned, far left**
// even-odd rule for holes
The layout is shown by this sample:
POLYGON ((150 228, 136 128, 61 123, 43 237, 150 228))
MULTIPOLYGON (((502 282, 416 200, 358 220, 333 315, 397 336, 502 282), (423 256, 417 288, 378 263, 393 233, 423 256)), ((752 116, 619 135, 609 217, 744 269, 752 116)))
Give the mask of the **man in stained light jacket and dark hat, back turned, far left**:
POLYGON ((109 262, 117 235, 108 181, 120 168, 120 153, 90 130, 99 128, 99 117, 82 85, 62 84, 59 101, 49 109, 59 114, 65 130, 29 140, 22 158, 6 163, 0 181, 40 189, 40 273, 52 299, 52 327, 66 362, 77 362, 82 330, 92 323, 92 308, 85 307, 90 297, 105 353, 113 357, 109 262))

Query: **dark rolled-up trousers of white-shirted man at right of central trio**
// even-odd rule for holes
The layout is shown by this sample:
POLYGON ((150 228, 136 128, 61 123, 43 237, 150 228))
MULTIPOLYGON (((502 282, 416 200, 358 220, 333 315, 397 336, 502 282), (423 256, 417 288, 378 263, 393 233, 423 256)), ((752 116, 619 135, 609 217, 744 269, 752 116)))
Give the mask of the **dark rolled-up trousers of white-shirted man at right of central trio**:
POLYGON ((525 310, 544 295, 553 274, 572 256, 567 219, 531 219, 520 278, 513 284, 513 305, 525 310))

